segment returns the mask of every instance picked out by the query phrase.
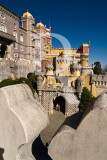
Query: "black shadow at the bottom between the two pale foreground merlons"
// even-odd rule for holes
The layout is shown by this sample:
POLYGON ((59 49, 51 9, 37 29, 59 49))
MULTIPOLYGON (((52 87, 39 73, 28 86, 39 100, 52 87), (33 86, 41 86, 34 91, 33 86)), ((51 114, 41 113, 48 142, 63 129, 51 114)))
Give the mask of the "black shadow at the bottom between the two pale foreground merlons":
POLYGON ((47 148, 43 145, 41 138, 39 136, 33 142, 32 154, 36 158, 36 160, 52 160, 47 152, 48 152, 47 148))

